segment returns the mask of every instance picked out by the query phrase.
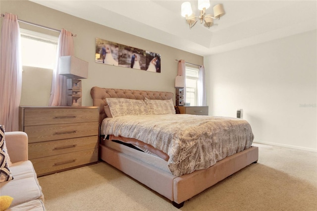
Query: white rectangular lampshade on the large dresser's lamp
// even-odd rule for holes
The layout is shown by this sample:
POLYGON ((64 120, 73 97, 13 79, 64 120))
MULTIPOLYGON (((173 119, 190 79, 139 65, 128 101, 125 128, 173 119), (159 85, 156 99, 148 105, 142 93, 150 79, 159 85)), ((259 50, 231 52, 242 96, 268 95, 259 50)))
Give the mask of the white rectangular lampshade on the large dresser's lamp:
POLYGON ((72 79, 88 78, 88 62, 72 55, 60 56, 58 72, 72 79))

